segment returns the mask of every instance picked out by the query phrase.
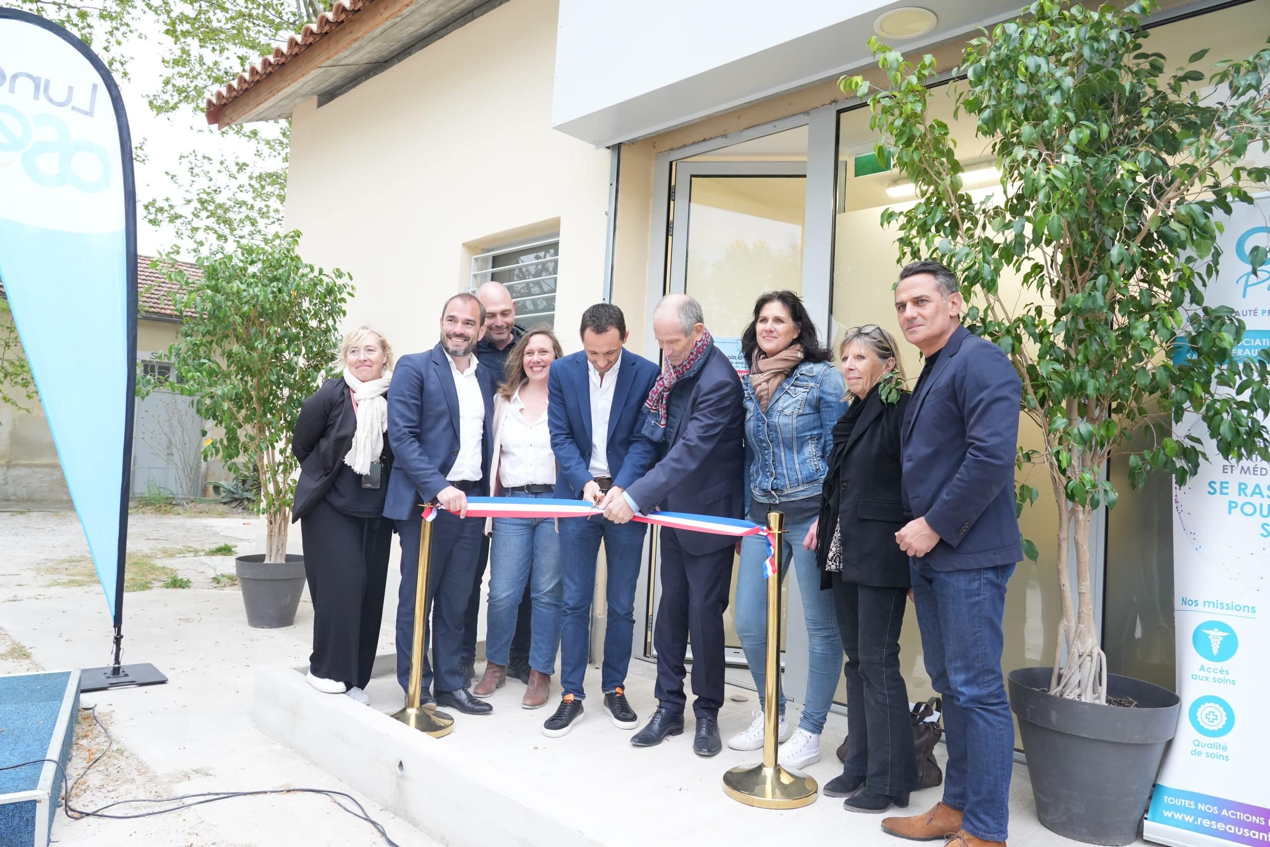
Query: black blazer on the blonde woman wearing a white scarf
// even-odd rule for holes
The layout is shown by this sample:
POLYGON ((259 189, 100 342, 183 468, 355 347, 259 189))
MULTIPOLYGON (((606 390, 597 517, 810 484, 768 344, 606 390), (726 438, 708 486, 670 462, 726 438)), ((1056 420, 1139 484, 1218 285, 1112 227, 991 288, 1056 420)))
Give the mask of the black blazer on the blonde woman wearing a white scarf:
MULTIPOLYGON (((344 377, 326 380, 300 408, 296 430, 291 437, 291 452, 300 460, 300 479, 291 504, 291 522, 305 517, 326 497, 335 484, 335 476, 344 465, 344 456, 353 446, 357 430, 357 413, 344 377)), ((381 484, 386 485, 392 472, 392 448, 384 436, 385 462, 381 484)))

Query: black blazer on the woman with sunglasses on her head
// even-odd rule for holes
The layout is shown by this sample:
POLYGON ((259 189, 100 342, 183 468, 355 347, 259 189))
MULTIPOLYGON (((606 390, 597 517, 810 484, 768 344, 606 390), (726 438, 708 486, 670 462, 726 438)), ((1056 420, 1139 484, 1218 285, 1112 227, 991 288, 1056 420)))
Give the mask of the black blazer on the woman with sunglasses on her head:
MULTIPOLYGON (((907 588, 908 555, 895 544, 895 533, 908 523, 900 491, 899 429, 904 422, 909 395, 897 403, 883 403, 872 391, 864 400, 846 456, 837 475, 824 479, 822 516, 827 510, 829 486, 839 484, 838 528, 842 533, 842 579, 861 585, 907 588)), ((827 516, 824 516, 827 517, 827 516)), ((824 570, 829 552, 828 521, 817 541, 817 564, 824 570)), ((829 587, 823 574, 820 588, 829 587)))

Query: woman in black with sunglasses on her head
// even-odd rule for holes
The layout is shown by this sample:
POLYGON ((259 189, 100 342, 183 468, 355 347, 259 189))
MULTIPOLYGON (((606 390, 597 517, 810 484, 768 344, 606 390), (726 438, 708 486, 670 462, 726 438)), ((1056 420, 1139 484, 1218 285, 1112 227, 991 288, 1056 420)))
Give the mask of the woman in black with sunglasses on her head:
POLYGON ((895 544, 907 523, 900 498, 899 430, 908 405, 895 339, 876 324, 853 326, 838 347, 851 406, 833 428, 833 451, 813 532, 823 584, 847 654, 847 739, 842 775, 823 789, 848 811, 907 806, 917 787, 899 627, 908 556, 895 544))

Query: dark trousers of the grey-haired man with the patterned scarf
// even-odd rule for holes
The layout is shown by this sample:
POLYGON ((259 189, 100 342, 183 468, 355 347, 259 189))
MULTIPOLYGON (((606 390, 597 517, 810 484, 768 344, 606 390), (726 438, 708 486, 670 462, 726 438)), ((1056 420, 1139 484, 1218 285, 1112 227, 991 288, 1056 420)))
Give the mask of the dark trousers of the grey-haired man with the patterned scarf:
POLYGON ((733 547, 704 556, 679 544, 677 530, 662 531, 662 601, 657 607, 653 646, 657 649, 657 687, 663 709, 682 712, 685 659, 692 636, 692 712, 714 717, 723 706, 723 613, 732 588, 733 547))

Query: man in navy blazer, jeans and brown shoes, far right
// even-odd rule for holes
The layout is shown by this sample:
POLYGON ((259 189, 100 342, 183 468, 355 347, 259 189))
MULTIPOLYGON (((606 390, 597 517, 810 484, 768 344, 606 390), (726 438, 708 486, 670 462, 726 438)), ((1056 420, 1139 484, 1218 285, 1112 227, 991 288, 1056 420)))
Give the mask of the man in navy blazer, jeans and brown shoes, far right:
POLYGON ((1013 724, 1001 677, 1006 583, 1022 559, 1015 514, 1021 382, 996 344, 960 324, 956 277, 937 262, 899 274, 899 326, 926 357, 900 429, 913 606, 931 684, 944 695, 947 775, 928 811, 883 829, 966 846, 1002 844, 1013 724))

